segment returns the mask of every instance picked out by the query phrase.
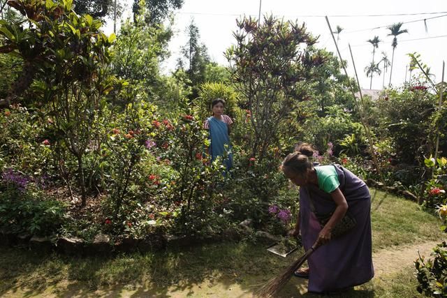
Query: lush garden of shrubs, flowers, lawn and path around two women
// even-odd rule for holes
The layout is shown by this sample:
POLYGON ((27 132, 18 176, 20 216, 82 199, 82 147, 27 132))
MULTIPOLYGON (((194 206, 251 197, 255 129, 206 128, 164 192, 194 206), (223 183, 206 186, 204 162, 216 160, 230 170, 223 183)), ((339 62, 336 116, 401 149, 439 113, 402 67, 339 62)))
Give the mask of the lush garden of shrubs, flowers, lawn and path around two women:
MULTIPOLYGON (((191 22, 164 75, 161 8, 181 3, 155 2, 107 36, 72 0, 0 1, 0 295, 254 295, 302 253, 267 248, 300 208, 279 166, 308 142, 372 194, 376 278, 346 297, 446 297, 447 93, 423 57, 408 54, 402 86, 359 98, 306 24, 242 17, 227 66, 191 22), (234 122, 230 169, 207 150, 216 98, 234 122)), ((279 297, 318 297, 306 283, 279 297)))

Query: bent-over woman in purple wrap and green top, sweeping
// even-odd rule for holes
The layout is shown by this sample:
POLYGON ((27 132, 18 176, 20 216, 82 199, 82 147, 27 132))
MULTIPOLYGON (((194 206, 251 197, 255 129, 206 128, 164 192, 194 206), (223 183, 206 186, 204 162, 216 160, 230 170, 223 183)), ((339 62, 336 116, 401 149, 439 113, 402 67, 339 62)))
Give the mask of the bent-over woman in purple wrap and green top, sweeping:
POLYGON ((309 159, 313 153, 309 144, 302 144, 282 163, 286 177, 300 186, 300 211, 291 234, 301 234, 305 250, 316 242, 323 244, 307 259, 309 268, 295 271, 295 276, 309 278, 309 292, 342 292, 374 276, 371 195, 365 182, 349 170, 314 167, 309 159), (352 216, 356 225, 331 239, 332 229, 344 216, 352 216))

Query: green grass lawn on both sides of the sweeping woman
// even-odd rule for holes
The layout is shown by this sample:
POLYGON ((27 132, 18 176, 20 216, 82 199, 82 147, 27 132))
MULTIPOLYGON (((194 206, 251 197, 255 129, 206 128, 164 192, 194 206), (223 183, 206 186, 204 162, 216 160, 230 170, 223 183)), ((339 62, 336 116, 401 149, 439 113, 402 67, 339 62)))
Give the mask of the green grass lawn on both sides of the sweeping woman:
MULTIPOLYGON (((421 211, 416 203, 375 190, 372 196, 374 251, 444 239, 439 218, 421 211)), ((124 289, 138 297, 175 297, 170 295, 172 291, 192 289, 200 283, 237 284, 244 291, 253 291, 291 262, 291 258, 279 258, 265 248, 241 241, 112 258, 38 255, 0 248, 0 296, 14 292, 18 297, 47 295, 48 291, 55 296, 85 296, 98 289, 115 296, 124 289)), ((419 297, 413 271, 409 267, 387 278, 374 278, 344 297, 419 297)), ((296 287, 288 285, 287 297, 294 295, 296 287)))

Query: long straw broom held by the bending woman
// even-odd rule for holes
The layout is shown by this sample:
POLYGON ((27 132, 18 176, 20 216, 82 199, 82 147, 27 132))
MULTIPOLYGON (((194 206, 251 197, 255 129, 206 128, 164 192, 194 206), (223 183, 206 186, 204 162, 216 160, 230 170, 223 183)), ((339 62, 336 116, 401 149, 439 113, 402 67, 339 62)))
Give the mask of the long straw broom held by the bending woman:
POLYGON ((284 287, 289 279, 291 279, 293 272, 298 270, 302 264, 309 258, 309 255, 312 255, 316 248, 321 246, 321 244, 315 242, 314 245, 309 248, 304 255, 302 255, 298 260, 293 262, 291 266, 289 266, 282 274, 279 276, 270 279, 261 289, 256 292, 256 295, 259 297, 271 297, 275 292, 284 287))

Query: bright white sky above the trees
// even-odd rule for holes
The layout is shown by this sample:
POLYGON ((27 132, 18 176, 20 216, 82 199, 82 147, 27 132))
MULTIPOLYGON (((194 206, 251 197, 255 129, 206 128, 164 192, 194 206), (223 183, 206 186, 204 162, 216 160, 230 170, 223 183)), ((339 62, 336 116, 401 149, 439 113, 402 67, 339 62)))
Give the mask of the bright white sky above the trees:
MULTIPOLYGON (((185 29, 191 20, 198 27, 200 40, 207 46, 211 59, 222 66, 228 66, 223 52, 235 43, 233 31, 237 29, 236 19, 244 15, 257 18, 260 3, 261 16, 272 14, 284 20, 305 22, 308 31, 314 36, 320 36, 317 46, 335 54, 335 43, 325 16, 328 16, 332 31, 335 31, 337 25, 342 27, 338 42, 342 59, 348 61, 348 75, 354 77, 349 52, 351 45, 360 86, 363 89, 369 89, 370 79, 366 77, 364 68, 372 61, 372 45, 367 40, 374 36, 379 36, 382 40, 379 49, 376 49, 374 61, 381 59, 381 52, 386 52, 391 60, 393 36, 387 36, 390 31, 386 27, 396 22, 404 22, 401 29, 407 29, 409 33, 397 36, 391 84, 398 87, 405 79, 409 80, 409 70, 406 70, 409 64, 407 54, 413 52, 421 55, 420 59, 435 75, 435 81, 441 81, 442 64, 447 61, 446 0, 184 0, 182 8, 175 11, 175 36, 169 43, 171 57, 163 63, 163 73, 170 73, 175 68, 180 47, 186 43, 185 29)), ((105 32, 110 33, 110 24, 105 28, 105 32)), ((386 85, 390 80, 389 75, 388 69, 386 85)), ((373 77, 372 89, 381 89, 382 86, 383 76, 373 77)))

